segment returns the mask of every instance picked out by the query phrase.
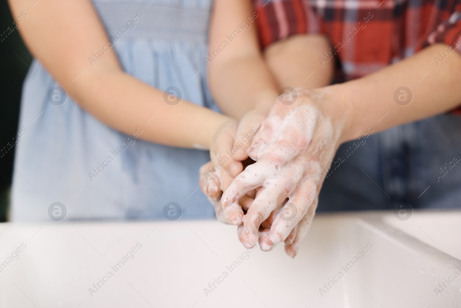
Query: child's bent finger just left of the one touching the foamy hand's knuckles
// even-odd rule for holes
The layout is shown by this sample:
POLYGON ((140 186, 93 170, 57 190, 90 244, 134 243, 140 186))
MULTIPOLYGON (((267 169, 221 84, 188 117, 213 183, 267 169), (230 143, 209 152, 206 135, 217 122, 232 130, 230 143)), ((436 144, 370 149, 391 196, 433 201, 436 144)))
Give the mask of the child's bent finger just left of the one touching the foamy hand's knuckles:
POLYGON ((212 144, 210 157, 216 166, 224 168, 233 178, 243 171, 243 166, 239 160, 233 158, 234 155, 232 154, 237 123, 232 121, 226 125, 227 127, 220 130, 217 136, 218 141, 212 144))

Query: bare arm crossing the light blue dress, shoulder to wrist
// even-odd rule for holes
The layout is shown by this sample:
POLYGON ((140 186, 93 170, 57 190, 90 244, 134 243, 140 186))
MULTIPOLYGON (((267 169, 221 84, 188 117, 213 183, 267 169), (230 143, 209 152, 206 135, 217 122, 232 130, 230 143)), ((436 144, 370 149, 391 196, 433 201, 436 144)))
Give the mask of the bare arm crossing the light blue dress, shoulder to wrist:
POLYGON ((69 95, 108 126, 127 134, 141 126, 140 138, 148 141, 209 148, 212 135, 231 120, 186 101, 166 104, 162 91, 123 72, 112 48, 91 66, 88 58, 109 39, 89 0, 40 1, 31 9, 34 2, 10 1, 14 15, 30 11, 19 30, 24 42, 69 95))

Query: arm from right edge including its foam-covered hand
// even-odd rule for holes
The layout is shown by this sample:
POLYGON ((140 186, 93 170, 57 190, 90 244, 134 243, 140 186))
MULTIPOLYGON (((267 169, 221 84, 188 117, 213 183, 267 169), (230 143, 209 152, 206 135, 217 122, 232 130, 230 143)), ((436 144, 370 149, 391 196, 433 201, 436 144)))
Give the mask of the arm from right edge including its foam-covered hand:
POLYGON ((341 143, 361 137, 367 127, 381 131, 459 105, 461 55, 452 52, 438 66, 434 61, 445 47, 427 47, 354 81, 303 91, 292 106, 276 101, 273 115, 263 123, 248 150, 257 162, 237 176, 221 198, 223 219, 243 222, 239 238, 245 247, 254 247, 259 241, 261 249, 268 251, 285 242, 286 253, 294 257, 312 222, 323 179, 341 143), (394 100, 394 92, 403 85, 414 96, 406 106, 394 100), (265 189, 243 218, 238 202, 233 200, 261 185, 265 189), (287 197, 289 203, 281 204, 287 197), (272 226, 259 232, 255 226, 269 215, 272 226))

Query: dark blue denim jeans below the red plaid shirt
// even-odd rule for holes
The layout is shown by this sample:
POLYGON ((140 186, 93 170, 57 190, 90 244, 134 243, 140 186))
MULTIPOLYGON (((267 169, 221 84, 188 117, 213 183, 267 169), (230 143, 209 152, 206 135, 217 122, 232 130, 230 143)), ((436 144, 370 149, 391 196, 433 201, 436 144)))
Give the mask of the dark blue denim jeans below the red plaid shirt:
POLYGON ((333 162, 339 157, 317 211, 461 205, 460 116, 438 115, 346 142, 333 162))

